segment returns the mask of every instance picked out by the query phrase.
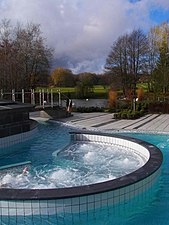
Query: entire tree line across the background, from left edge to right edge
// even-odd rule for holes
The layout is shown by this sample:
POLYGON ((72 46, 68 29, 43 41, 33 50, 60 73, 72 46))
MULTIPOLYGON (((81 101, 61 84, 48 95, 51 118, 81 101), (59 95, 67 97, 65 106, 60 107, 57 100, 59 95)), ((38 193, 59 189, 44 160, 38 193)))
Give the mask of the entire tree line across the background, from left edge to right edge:
MULTIPOLYGON (((121 35, 112 43, 103 74, 56 68, 51 72, 53 49, 42 36, 40 25, 9 20, 0 23, 0 89, 30 89, 44 86, 77 87, 81 93, 93 85, 122 89, 125 96, 135 91, 144 77, 149 91, 169 91, 169 24, 121 35)), ((56 49, 57 52, 57 49, 56 49)), ((134 94, 134 93, 133 93, 134 94)))

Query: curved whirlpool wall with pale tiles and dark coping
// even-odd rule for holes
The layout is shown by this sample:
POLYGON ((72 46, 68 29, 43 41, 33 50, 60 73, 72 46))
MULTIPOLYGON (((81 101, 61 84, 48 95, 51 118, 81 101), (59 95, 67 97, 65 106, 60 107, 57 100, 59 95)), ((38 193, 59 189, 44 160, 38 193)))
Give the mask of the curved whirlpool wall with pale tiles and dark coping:
POLYGON ((119 204, 127 207, 132 199, 138 196, 146 198, 147 191, 151 192, 160 173, 163 158, 161 151, 154 145, 130 137, 87 132, 71 133, 71 139, 128 146, 132 151, 141 154, 146 163, 131 174, 98 184, 60 189, 0 189, 1 218, 50 218, 54 215, 57 218, 59 215, 80 215, 119 204))

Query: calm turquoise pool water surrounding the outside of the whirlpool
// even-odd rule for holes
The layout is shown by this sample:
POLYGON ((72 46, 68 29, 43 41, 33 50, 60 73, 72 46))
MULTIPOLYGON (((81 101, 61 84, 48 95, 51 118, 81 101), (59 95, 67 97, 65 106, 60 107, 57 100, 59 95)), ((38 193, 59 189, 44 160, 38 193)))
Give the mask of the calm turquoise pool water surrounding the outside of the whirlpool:
MULTIPOLYGON (((0 159, 0 163, 1 165, 5 165, 30 160, 36 167, 41 167, 41 165, 48 163, 50 164, 53 160, 53 152, 55 152, 56 149, 62 149, 62 147, 69 143, 69 131, 73 131, 73 129, 60 126, 59 124, 43 124, 39 127, 39 135, 32 141, 16 145, 15 153, 6 155, 5 159, 3 156, 0 159), (46 156, 46 149, 48 149, 48 157, 42 157, 42 155, 46 156)), ((169 164, 167 160, 169 136, 136 133, 126 135, 151 142, 162 150, 164 162, 160 176, 160 185, 155 186, 153 192, 148 192, 148 200, 146 200, 146 202, 142 201, 141 204, 137 204, 137 199, 134 199, 131 201, 130 205, 126 207, 124 205, 118 205, 116 208, 112 209, 111 207, 105 207, 104 209, 95 210, 94 212, 91 211, 87 214, 69 215, 68 217, 61 214, 57 218, 57 224, 145 224, 145 221, 146 224, 167 224, 169 219, 169 173, 167 169, 167 165, 169 164)), ((141 198, 141 196, 139 196, 139 198, 141 198)), ((56 216, 48 218, 44 215, 41 217, 40 221, 38 218, 36 220, 36 217, 32 219, 31 216, 11 216, 10 219, 4 216, 1 217, 1 224, 56 224, 56 216)))

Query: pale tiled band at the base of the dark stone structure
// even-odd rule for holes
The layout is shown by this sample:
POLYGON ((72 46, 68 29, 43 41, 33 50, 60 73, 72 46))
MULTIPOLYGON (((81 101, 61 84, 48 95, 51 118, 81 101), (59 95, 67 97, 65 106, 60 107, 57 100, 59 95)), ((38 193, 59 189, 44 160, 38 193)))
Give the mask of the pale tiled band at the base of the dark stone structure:
POLYGON ((36 132, 37 132, 37 128, 35 128, 31 131, 28 131, 28 132, 0 138, 0 148, 6 148, 11 145, 18 144, 23 141, 29 140, 35 135, 36 132))

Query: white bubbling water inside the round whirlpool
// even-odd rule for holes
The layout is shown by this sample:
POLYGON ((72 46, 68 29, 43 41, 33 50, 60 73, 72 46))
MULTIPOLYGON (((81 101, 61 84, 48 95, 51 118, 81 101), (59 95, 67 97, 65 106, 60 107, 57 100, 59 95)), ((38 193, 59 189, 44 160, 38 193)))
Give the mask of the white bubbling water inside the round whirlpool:
POLYGON ((63 188, 89 185, 129 174, 145 163, 130 149, 98 143, 75 143, 53 153, 49 165, 31 168, 28 174, 10 171, 0 175, 1 188, 63 188))

